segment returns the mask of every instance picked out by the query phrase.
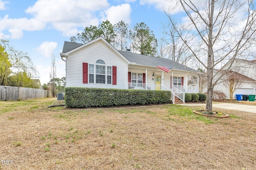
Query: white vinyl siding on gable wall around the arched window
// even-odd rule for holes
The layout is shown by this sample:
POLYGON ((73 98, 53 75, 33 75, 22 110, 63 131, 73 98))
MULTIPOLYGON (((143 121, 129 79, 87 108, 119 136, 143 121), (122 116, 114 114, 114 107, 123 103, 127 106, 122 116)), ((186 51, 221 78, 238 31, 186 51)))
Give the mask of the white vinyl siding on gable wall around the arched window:
MULTIPOLYGON (((106 45, 103 41, 99 40, 96 41, 84 48, 79 49, 73 53, 68 55, 66 59, 66 76, 67 76, 67 87, 95 87, 95 88, 120 88, 120 89, 127 89, 127 79, 128 79, 128 66, 127 61, 122 59, 121 56, 118 55, 114 50, 112 50, 108 45, 106 45), (96 62, 98 60, 102 60, 105 62, 106 69, 107 66, 116 66, 116 85, 112 84, 97 84, 97 83, 90 83, 90 64, 94 65, 94 70, 96 70, 96 62), (82 82, 82 63, 88 63, 88 84, 83 84, 82 82)), ((92 67, 91 65, 91 67, 92 67)), ((103 65, 103 64, 98 64, 103 65)), ((92 68, 91 68, 92 69, 92 68)), ((100 70, 100 68, 99 68, 100 70)), ((106 70, 110 72, 110 70, 106 70)), ((99 73, 102 73, 99 71, 99 73)), ((97 74, 96 72, 91 74, 97 74)), ((111 70, 112 74, 112 70, 111 70)), ((99 74, 101 75, 101 74, 99 74)), ((112 75, 106 75, 106 82, 110 81, 111 76, 111 83, 112 83, 112 75)), ((100 77, 98 77, 100 81, 100 77)), ((92 77, 91 77, 92 81, 92 77)), ((94 79, 94 82, 96 80, 94 79)))

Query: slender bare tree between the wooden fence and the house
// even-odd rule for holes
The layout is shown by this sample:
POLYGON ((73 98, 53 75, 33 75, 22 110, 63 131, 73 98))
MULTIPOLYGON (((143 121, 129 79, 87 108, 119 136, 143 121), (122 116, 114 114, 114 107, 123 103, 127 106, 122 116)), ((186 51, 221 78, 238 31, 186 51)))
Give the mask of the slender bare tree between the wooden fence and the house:
POLYGON ((52 54, 52 66, 50 72, 50 91, 52 92, 52 97, 56 97, 56 64, 54 54, 52 54))

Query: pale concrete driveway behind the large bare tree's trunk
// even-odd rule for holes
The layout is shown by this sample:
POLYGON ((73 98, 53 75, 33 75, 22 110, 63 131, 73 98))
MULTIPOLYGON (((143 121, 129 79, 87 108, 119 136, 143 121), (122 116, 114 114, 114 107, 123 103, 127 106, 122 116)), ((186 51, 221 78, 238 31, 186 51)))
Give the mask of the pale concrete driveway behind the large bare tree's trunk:
MULTIPOLYGON (((180 104, 183 106, 206 106, 206 104, 180 104)), ((213 103, 212 107, 218 107, 222 109, 247 111, 251 113, 256 113, 256 105, 246 105, 246 104, 231 104, 231 103, 213 103)))

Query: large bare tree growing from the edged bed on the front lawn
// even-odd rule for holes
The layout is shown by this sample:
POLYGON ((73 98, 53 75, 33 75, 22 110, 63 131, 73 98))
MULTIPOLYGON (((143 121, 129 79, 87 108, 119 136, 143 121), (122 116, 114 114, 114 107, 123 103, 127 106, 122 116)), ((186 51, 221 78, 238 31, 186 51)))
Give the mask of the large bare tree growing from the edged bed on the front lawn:
MULTIPOLYGON (((220 80, 214 74, 214 68, 227 60, 234 59, 246 53, 255 44, 256 11, 253 0, 178 0, 177 6, 185 12, 185 27, 192 38, 187 41, 179 31, 174 20, 174 26, 179 37, 193 54, 194 58, 206 68, 207 98, 206 111, 212 111, 212 92, 220 80)), ((170 16, 174 8, 169 8, 170 16)), ((229 68, 228 68, 229 69, 229 68)), ((226 70, 228 70, 226 69, 226 70)))

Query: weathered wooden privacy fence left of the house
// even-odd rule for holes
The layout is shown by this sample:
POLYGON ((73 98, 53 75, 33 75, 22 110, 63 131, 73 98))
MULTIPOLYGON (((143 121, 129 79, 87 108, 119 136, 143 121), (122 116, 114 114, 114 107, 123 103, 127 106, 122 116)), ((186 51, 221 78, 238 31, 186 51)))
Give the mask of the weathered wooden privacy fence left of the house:
POLYGON ((36 88, 0 86, 0 100, 21 101, 39 98, 48 98, 49 90, 36 88))

